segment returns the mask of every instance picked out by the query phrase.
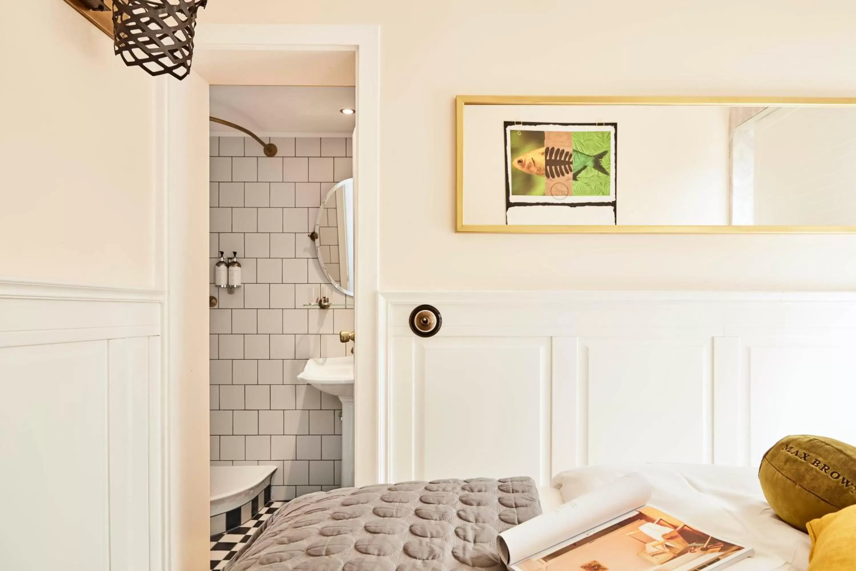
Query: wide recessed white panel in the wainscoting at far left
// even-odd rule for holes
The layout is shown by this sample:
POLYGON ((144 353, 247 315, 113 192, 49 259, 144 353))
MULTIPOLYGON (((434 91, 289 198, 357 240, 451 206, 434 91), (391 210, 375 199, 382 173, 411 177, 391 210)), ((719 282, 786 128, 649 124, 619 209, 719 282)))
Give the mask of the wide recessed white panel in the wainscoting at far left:
POLYGON ((0 567, 110 568, 109 378, 106 342, 0 348, 0 567))

